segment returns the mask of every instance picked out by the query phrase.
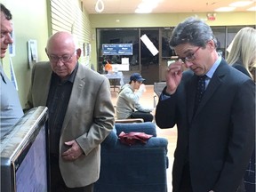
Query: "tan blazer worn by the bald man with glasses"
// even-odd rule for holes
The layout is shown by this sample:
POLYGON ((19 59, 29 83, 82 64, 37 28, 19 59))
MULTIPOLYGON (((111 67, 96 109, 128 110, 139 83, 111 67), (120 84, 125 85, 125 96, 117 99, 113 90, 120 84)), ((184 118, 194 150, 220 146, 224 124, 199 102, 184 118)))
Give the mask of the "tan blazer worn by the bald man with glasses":
MULTIPOLYGON (((46 105, 51 76, 49 62, 36 63, 26 108, 46 105)), ((114 113, 108 79, 79 64, 60 135, 60 152, 69 140, 76 140, 84 151, 74 162, 60 157, 60 172, 69 188, 99 179, 100 143, 113 129, 114 113)))

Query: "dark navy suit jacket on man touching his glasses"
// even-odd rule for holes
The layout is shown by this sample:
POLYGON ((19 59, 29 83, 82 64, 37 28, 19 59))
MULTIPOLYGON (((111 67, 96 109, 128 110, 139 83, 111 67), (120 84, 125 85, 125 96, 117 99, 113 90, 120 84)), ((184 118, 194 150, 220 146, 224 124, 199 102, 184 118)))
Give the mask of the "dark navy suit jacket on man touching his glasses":
POLYGON ((179 191, 187 156, 193 191, 235 192, 252 155, 254 84, 221 60, 193 117, 195 89, 196 76, 188 70, 171 98, 159 100, 156 107, 159 127, 178 127, 173 192, 179 191))

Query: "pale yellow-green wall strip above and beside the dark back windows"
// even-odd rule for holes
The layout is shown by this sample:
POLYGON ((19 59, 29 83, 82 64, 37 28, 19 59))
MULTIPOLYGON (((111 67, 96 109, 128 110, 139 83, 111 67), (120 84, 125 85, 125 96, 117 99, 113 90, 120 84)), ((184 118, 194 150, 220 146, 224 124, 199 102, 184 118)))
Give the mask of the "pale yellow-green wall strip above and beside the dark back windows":
MULTIPOLYGON (((161 28, 174 27, 187 17, 206 19, 206 12, 157 14, 90 14, 92 26, 92 62, 96 63, 95 28, 161 28), (119 20, 119 21, 116 21, 119 20)), ((256 25, 256 12, 217 12, 210 26, 256 25)))

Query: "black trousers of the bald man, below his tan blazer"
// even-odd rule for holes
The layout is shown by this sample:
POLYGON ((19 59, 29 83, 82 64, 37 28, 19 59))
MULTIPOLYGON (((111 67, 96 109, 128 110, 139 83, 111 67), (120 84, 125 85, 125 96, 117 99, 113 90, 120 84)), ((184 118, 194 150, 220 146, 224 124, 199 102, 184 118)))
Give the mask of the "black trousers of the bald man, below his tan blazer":
POLYGON ((68 188, 62 179, 59 158, 50 156, 50 186, 51 192, 93 192, 93 184, 81 188, 68 188))

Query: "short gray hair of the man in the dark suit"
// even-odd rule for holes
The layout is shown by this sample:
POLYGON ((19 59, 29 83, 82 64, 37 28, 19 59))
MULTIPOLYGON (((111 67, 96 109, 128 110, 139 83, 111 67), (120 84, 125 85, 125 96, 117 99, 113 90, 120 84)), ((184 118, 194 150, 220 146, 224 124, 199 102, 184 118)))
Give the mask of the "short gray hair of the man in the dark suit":
POLYGON ((203 20, 189 17, 173 29, 170 45, 172 48, 180 44, 193 44, 205 47, 210 40, 214 42, 217 48, 217 39, 213 35, 212 28, 203 20))

